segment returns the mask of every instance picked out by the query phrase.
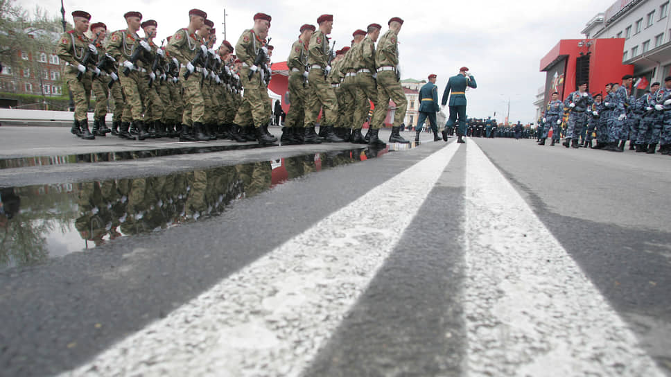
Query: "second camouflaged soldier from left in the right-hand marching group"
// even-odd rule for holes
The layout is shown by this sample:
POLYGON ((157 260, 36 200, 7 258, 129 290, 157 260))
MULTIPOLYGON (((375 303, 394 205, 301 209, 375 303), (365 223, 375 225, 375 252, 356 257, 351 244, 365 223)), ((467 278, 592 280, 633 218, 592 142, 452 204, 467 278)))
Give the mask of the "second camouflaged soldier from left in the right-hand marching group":
POLYGON ((319 24, 319 30, 312 35, 308 45, 308 66, 310 68, 308 82, 310 89, 305 110, 306 130, 304 141, 315 143, 313 131, 320 108, 322 108, 324 114, 320 129, 325 129, 324 139, 338 143, 344 141, 333 133, 333 125, 338 118, 338 100, 333 87, 329 82, 326 82, 326 77, 329 76, 331 71, 329 54, 332 53, 329 49, 329 38, 326 35, 331 34, 333 29, 333 15, 321 15, 317 18, 317 24, 319 24))

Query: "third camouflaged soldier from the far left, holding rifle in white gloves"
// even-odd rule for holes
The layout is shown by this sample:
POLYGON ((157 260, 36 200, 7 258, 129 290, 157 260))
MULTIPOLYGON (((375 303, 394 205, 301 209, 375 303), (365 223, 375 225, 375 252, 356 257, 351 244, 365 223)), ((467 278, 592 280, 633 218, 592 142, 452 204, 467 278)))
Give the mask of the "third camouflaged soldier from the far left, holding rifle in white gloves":
POLYGON ((130 133, 128 133, 132 121, 138 129, 138 139, 144 140, 149 137, 142 116, 143 100, 147 96, 149 82, 140 75, 140 73, 146 72, 145 63, 141 59, 137 59, 135 62, 131 62, 130 59, 133 55, 137 56, 137 53, 139 53, 136 52, 137 49, 143 49, 142 53, 144 53, 149 52, 151 47, 137 35, 142 14, 140 12, 126 12, 123 18, 125 18, 128 28, 116 30, 112 33, 110 44, 107 46, 107 50, 119 62, 119 69, 128 71, 128 74, 121 73, 119 75, 119 82, 121 82, 126 103, 121 116, 119 137, 132 139, 130 133))

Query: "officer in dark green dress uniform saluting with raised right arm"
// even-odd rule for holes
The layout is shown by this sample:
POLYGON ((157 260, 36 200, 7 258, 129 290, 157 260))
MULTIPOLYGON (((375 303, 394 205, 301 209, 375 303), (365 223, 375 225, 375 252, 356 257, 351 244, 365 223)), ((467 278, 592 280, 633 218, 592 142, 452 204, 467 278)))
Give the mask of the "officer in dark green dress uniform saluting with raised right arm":
POLYGON ((448 81, 443 92, 443 100, 441 105, 445 106, 447 104, 447 97, 450 97, 450 118, 445 123, 445 128, 443 128, 443 140, 447 141, 447 129, 451 128, 457 116, 459 116, 459 126, 457 128, 457 136, 459 139, 457 143, 464 143, 464 134, 466 134, 466 87, 471 87, 475 89, 478 87, 476 84, 476 79, 473 78, 473 75, 468 73, 469 69, 467 67, 461 67, 459 69, 459 74, 457 76, 452 76, 448 81), (450 95, 450 91, 452 94, 450 95))

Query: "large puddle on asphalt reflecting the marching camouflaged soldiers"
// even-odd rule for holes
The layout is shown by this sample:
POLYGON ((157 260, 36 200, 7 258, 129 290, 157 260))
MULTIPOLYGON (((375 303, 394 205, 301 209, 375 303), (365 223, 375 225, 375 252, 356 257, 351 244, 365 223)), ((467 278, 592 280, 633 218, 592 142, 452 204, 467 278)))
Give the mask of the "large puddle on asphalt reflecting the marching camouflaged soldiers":
POLYGON ((0 270, 219 216, 231 202, 290 179, 414 146, 311 153, 157 177, 1 188, 0 270))

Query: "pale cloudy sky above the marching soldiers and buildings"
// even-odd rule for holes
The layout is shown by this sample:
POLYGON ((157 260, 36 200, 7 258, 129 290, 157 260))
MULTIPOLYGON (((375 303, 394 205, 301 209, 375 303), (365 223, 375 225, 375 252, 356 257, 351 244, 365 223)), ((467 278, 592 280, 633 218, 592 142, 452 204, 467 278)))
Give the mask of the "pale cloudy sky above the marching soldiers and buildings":
MULTIPOLYGON (((582 37, 580 31, 598 12, 615 0, 563 1, 175 1, 175 0, 64 0, 66 16, 73 10, 87 10, 92 22, 103 21, 110 30, 125 28, 123 13, 141 12, 144 19, 158 22, 157 41, 186 27, 191 8, 200 8, 214 21, 219 42, 223 40, 224 9, 226 37, 233 45, 252 16, 272 16, 273 61, 286 60, 302 24, 316 24, 324 13, 334 15, 336 49, 349 46, 351 33, 376 22, 385 26, 391 17, 405 20, 399 35, 403 78, 423 79, 438 75, 440 92, 459 67, 467 66, 478 89, 467 92, 468 114, 492 116, 503 121, 510 101, 510 121, 534 122, 538 88, 545 82, 539 61, 561 39, 582 37), (337 6, 333 4, 337 3, 337 6)), ((50 14, 60 16, 60 1, 17 0, 26 10, 39 3, 50 14)), ((439 97, 442 97, 439 96, 439 97)), ((440 98, 439 98, 440 99, 440 98)))

